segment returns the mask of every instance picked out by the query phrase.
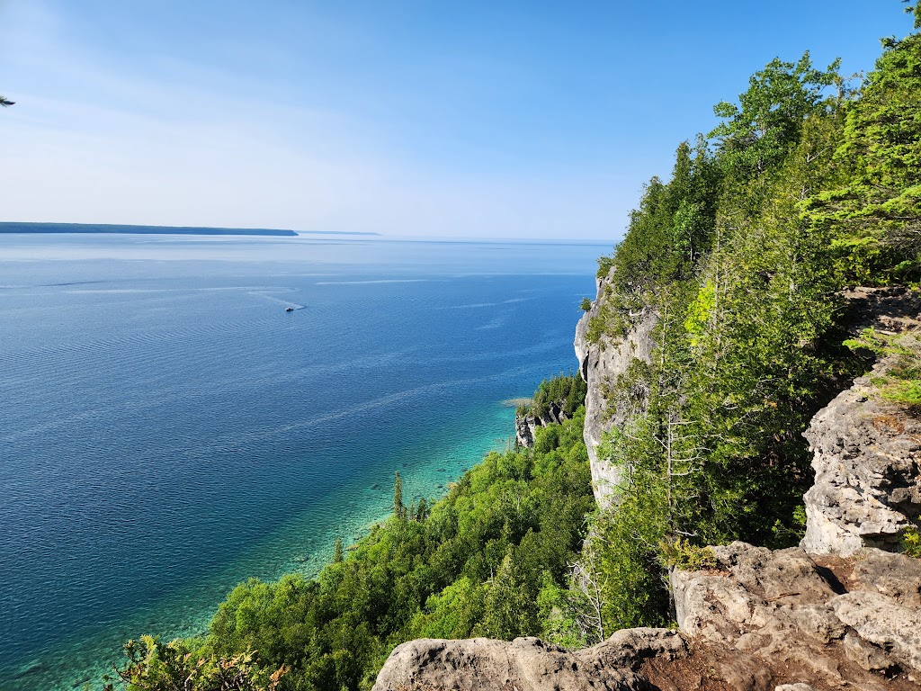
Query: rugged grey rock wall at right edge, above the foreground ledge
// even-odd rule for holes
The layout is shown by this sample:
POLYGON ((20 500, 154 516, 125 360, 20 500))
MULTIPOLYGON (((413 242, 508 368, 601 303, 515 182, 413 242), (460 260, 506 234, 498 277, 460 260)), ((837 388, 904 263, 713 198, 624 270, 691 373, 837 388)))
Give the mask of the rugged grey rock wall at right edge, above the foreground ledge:
MULTIPOLYGON (((921 328, 917 295, 904 288, 857 288, 845 295, 850 332, 921 328)), ((921 421, 879 396, 874 381, 892 368, 883 358, 838 394, 805 433, 815 484, 806 493, 801 546, 813 554, 852 555, 864 546, 892 549, 921 516, 921 421)))

